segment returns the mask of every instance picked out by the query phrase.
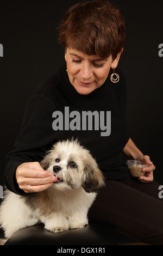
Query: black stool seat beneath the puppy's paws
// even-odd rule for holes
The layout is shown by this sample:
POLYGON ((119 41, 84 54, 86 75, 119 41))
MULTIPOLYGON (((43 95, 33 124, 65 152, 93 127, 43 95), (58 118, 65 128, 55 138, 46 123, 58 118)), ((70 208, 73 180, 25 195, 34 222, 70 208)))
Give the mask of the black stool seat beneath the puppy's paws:
POLYGON ((116 228, 103 222, 90 222, 82 229, 53 233, 44 225, 23 228, 14 233, 5 245, 118 245, 116 228))

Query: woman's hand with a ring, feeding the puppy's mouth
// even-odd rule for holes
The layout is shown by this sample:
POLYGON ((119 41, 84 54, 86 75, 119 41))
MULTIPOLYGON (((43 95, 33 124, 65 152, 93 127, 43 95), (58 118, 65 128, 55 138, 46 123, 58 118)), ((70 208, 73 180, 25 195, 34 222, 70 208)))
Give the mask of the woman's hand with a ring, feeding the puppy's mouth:
POLYGON ((16 180, 21 190, 30 193, 46 190, 56 178, 49 170, 44 170, 39 162, 29 162, 17 167, 16 180))

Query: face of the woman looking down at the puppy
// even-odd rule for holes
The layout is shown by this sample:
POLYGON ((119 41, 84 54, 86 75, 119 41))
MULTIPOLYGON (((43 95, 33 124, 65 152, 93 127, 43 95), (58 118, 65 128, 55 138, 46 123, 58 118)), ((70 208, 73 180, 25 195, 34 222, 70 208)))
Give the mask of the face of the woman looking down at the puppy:
POLYGON ((102 59, 97 55, 87 56, 82 52, 67 48, 65 53, 67 74, 77 92, 79 94, 89 94, 101 87, 108 77, 110 68, 117 67, 121 52, 112 62, 111 56, 102 59))

